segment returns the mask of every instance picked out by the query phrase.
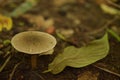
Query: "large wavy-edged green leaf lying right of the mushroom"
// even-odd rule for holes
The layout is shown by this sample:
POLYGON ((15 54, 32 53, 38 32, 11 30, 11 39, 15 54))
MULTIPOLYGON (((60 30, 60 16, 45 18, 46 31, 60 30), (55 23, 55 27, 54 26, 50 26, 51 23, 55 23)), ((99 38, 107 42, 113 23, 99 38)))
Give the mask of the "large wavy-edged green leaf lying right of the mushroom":
POLYGON ((108 35, 105 34, 101 39, 94 40, 87 46, 75 48, 69 46, 63 53, 56 56, 49 64, 48 70, 53 74, 60 73, 66 66, 80 68, 92 64, 104 58, 109 51, 108 35))

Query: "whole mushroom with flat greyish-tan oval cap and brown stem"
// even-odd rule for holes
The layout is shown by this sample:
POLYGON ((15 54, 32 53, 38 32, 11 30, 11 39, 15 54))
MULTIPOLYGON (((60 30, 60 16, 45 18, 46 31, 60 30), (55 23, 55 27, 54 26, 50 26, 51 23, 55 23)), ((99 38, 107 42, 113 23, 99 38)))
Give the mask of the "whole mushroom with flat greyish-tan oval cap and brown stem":
POLYGON ((56 43, 52 35, 40 31, 21 32, 11 39, 11 44, 17 51, 31 54, 32 69, 37 66, 37 54, 52 54, 56 43))

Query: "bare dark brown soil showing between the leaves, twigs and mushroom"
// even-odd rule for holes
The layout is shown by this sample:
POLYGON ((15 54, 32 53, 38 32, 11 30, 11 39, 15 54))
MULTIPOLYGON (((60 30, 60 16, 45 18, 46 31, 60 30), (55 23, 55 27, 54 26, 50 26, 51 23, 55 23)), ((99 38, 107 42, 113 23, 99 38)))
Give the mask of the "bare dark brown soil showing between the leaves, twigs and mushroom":
MULTIPOLYGON (((71 29, 74 31, 74 34, 68 38, 68 42, 61 40, 55 32, 53 33, 58 41, 54 54, 39 56, 38 67, 36 70, 31 70, 31 55, 17 52, 10 44, 3 45, 3 41, 6 39, 11 39, 16 33, 27 31, 31 28, 39 31, 44 30, 32 27, 34 24, 30 23, 23 17, 13 18, 14 25, 12 30, 4 30, 0 32, 0 65, 2 65, 7 59, 7 57, 4 58, 4 55, 6 55, 8 52, 10 54, 7 56, 11 55, 10 61, 5 66, 4 70, 0 72, 0 80, 9 80, 9 76, 13 71, 14 66, 19 62, 20 65, 18 65, 15 69, 12 80, 77 80, 78 76, 86 71, 90 71, 93 74, 99 73, 97 80, 120 80, 120 43, 110 34, 110 52, 104 59, 83 68, 76 69, 66 67, 64 71, 57 75, 52 73, 42 73, 44 70, 47 70, 48 64, 52 62, 54 57, 66 46, 74 45, 76 47, 81 47, 94 39, 100 38, 106 31, 106 28, 103 28, 104 25, 114 19, 115 16, 105 14, 101 10, 99 4, 97 4, 94 0, 84 1, 84 3, 74 2, 56 7, 53 5, 52 1, 48 2, 47 0, 40 0, 37 6, 27 12, 33 15, 40 14, 46 19, 53 18, 55 20, 55 30, 71 29), (69 14, 73 18, 67 17, 69 14), (75 20, 79 20, 79 23, 75 23, 75 20), (21 26, 19 24, 20 22, 24 23, 24 25, 21 26), (104 69, 110 70, 118 75, 105 71, 104 69)), ((14 4, 16 5, 21 3, 22 0, 15 2, 14 4)), ((14 8, 12 8, 10 4, 6 4, 0 9, 2 13, 6 13, 4 9, 9 12, 14 8)), ((115 28, 118 30, 118 34, 120 34, 119 22, 120 17, 118 17, 111 24, 107 25, 107 27, 112 28, 115 26, 115 28)))

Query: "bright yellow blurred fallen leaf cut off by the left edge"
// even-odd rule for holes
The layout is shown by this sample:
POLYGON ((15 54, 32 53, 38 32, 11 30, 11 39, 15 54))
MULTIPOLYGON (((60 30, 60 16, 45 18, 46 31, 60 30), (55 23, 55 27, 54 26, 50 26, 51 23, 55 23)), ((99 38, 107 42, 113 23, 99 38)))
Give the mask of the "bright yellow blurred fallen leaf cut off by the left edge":
POLYGON ((3 29, 11 30, 12 28, 12 19, 7 16, 0 15, 0 31, 3 29))

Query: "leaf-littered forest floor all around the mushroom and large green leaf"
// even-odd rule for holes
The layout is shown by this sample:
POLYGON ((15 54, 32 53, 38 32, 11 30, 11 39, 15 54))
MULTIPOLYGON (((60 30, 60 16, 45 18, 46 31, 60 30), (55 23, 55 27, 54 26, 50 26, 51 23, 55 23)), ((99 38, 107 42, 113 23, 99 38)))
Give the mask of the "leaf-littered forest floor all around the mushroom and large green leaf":
POLYGON ((120 80, 119 35, 119 0, 0 0, 0 80, 120 80), (29 71, 30 56, 10 44, 15 34, 29 30, 47 32, 58 41, 52 56, 40 56, 36 71, 29 71), (110 35, 107 58, 80 69, 67 67, 58 75, 42 73, 66 46, 84 46, 105 32, 110 35), (28 63, 13 68, 21 60, 28 63))

